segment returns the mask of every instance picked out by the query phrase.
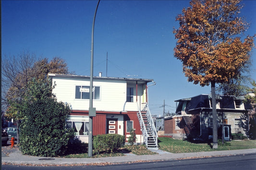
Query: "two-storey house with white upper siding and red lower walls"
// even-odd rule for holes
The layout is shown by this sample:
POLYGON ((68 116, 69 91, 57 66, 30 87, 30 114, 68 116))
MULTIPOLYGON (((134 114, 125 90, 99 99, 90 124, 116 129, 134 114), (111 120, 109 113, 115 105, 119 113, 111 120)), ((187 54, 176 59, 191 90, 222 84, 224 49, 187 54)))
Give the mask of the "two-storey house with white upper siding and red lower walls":
MULTIPOLYGON (((53 94, 71 107, 67 126, 88 142, 90 76, 49 74, 53 94)), ((157 133, 148 108, 148 86, 153 79, 95 76, 93 78, 93 135, 120 134, 135 129, 136 142, 157 148, 157 133)))

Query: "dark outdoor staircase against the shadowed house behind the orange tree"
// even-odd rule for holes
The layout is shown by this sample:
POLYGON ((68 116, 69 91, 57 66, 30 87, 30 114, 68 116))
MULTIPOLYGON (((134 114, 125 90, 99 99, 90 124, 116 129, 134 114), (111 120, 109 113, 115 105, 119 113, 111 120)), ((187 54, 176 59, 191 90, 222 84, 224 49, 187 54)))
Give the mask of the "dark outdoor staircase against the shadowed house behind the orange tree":
POLYGON ((198 131, 192 122, 192 117, 183 116, 183 120, 185 122, 184 131, 186 133, 187 138, 198 139, 200 138, 200 131, 198 131))

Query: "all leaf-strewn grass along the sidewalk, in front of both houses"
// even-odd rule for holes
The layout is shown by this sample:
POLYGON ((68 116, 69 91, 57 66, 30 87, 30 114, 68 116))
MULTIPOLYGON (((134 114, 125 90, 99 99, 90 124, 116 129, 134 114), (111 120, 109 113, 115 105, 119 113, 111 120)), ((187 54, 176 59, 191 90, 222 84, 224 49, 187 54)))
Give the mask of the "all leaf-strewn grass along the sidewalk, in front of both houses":
MULTIPOLYGON (((212 145, 212 143, 211 143, 212 145)), ((218 145, 218 149, 211 149, 207 143, 191 143, 187 140, 179 140, 173 138, 158 138, 159 149, 171 153, 186 153, 186 152, 203 152, 203 151, 216 151, 216 150, 235 150, 235 149, 252 149, 256 148, 256 140, 232 140, 226 142, 226 145, 218 145), (228 146, 230 145, 230 146, 228 146)), ((82 143, 68 149, 65 158, 88 158, 88 144, 82 143)), ((101 152, 96 154, 93 152, 93 158, 99 157, 115 157, 124 156, 124 153, 133 153, 135 155, 152 155, 157 154, 146 149, 145 145, 125 145, 116 152, 106 153, 101 152)))

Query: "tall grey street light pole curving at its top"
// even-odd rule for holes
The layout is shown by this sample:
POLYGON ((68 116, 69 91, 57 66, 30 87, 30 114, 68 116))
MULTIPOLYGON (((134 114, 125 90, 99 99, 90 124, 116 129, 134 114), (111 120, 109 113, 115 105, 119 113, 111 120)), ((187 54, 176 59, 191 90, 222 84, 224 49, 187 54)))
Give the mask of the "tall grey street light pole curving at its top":
MULTIPOLYGON (((99 4, 99 0, 98 0, 99 4)), ((88 157, 92 157, 92 137, 93 137, 93 117, 96 116, 96 108, 93 108, 93 38, 94 38, 94 23, 96 18, 96 13, 98 9, 98 4, 94 13, 93 23, 92 23, 92 48, 91 48, 91 74, 90 74, 90 101, 89 101, 89 140, 88 140, 88 157)))

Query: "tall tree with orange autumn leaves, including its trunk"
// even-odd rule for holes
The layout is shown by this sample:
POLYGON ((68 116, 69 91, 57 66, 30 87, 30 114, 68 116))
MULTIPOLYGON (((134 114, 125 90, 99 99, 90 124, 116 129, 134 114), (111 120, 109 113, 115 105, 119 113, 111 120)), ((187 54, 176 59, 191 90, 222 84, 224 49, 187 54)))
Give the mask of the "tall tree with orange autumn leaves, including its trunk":
POLYGON ((191 0, 176 17, 174 57, 183 63, 189 82, 211 84, 213 149, 218 148, 215 85, 229 82, 241 74, 250 59, 254 37, 238 37, 249 24, 239 17, 240 0, 191 0))

